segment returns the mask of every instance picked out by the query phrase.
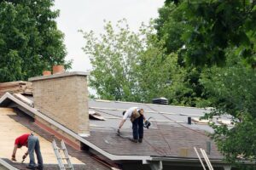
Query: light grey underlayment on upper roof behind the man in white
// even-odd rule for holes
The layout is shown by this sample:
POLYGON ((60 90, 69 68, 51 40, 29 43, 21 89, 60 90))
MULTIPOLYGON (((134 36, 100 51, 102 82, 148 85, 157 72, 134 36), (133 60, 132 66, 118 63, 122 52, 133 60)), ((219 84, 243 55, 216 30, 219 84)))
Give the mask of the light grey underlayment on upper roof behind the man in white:
MULTIPOLYGON (((119 120, 122 118, 122 111, 132 106, 143 108, 145 116, 147 118, 151 117, 150 122, 153 122, 151 128, 156 128, 157 124, 183 125, 191 129, 213 132, 212 128, 207 124, 193 123, 189 125, 187 123, 189 116, 199 118, 200 116, 204 116, 205 113, 210 112, 210 110, 174 105, 154 105, 98 99, 89 100, 89 109, 90 111, 99 112, 103 117, 107 118, 107 121, 98 122, 91 120, 90 123, 103 127, 117 127, 119 120)), ((131 129, 131 123, 126 122, 124 127, 131 129)))

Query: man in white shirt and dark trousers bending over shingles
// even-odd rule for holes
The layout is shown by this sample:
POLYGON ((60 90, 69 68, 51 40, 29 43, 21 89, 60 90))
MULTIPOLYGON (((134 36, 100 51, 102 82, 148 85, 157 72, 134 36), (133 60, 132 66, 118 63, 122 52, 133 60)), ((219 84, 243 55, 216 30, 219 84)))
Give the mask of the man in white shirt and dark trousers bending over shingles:
POLYGON ((120 128, 124 125, 125 120, 130 118, 132 123, 132 134, 133 139, 131 141, 137 143, 143 142, 143 120, 146 121, 144 110, 138 107, 131 107, 127 111, 123 112, 123 119, 119 123, 118 133, 120 128))

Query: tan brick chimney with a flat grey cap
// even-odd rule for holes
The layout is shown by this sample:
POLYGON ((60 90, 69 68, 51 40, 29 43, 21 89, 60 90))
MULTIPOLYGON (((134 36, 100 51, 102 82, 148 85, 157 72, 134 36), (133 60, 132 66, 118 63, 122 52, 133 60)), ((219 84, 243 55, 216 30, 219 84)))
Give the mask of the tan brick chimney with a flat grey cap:
POLYGON ((89 134, 88 75, 61 72, 30 78, 35 108, 74 133, 89 134))

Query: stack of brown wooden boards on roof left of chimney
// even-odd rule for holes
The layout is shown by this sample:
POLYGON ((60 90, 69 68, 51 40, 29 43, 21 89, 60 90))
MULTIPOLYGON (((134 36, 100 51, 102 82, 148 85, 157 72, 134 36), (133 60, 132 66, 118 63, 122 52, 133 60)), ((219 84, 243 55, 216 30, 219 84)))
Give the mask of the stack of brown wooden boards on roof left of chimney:
POLYGON ((6 92, 11 94, 32 94, 32 82, 3 82, 0 83, 0 97, 6 92))

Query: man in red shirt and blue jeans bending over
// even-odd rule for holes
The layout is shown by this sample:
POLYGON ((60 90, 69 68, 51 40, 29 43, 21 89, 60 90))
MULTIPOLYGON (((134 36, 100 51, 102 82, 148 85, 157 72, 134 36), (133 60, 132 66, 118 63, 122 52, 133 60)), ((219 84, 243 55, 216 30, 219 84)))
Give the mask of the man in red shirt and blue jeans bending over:
POLYGON ((43 169, 43 158, 41 155, 40 144, 38 137, 34 136, 33 133, 29 134, 22 134, 20 137, 15 139, 15 148, 12 155, 12 161, 16 161, 15 155, 18 148, 22 146, 27 147, 27 151, 22 156, 23 161, 25 160, 26 156, 29 155, 30 161, 27 166, 29 169, 43 169), (34 151, 36 152, 38 158, 38 166, 36 166, 35 158, 34 158, 34 151))

